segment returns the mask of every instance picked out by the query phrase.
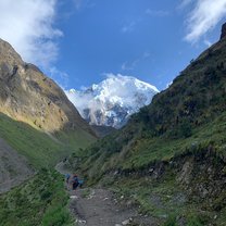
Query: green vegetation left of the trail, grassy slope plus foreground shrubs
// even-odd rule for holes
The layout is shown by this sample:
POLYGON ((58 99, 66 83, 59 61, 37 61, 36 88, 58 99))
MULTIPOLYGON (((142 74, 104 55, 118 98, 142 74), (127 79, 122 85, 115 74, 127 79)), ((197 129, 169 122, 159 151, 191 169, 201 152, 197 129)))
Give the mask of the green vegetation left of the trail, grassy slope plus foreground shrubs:
POLYGON ((92 142, 93 137, 75 130, 48 135, 4 114, 0 114, 0 137, 38 172, 29 181, 0 196, 0 225, 74 225, 63 178, 52 168, 70 153, 92 142))

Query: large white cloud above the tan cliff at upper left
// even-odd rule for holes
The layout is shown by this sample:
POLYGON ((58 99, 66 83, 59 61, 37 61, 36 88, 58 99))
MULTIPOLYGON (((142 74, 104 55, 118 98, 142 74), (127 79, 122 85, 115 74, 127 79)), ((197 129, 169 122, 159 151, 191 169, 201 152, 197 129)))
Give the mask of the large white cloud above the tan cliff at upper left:
POLYGON ((56 0, 1 0, 0 38, 10 42, 22 58, 47 68, 58 58, 53 27, 56 0))

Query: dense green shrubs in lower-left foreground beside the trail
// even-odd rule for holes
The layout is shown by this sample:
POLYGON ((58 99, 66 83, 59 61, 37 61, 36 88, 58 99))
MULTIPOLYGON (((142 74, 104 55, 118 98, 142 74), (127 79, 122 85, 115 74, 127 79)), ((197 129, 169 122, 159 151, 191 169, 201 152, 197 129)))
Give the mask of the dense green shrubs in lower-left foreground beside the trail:
POLYGON ((62 176, 42 168, 29 181, 0 196, 0 225, 73 225, 67 202, 62 176))

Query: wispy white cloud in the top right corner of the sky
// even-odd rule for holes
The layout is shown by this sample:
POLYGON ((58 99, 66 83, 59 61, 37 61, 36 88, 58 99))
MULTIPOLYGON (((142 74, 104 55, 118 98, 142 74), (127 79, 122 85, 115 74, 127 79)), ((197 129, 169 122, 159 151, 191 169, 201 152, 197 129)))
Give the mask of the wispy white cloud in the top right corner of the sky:
MULTIPOLYGON (((185 1, 188 5, 192 1, 185 1)), ((204 34, 214 28, 226 15, 226 0, 197 0, 189 14, 188 33, 185 39, 189 42, 198 41, 204 34)))

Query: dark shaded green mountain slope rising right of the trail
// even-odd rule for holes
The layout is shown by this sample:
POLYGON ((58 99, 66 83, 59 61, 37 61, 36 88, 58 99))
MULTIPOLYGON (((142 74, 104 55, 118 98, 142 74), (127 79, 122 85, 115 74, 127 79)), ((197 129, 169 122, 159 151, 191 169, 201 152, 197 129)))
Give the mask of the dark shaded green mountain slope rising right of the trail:
MULTIPOLYGON (((225 26, 224 26, 225 27, 225 26)), ((164 225, 226 224, 226 36, 70 164, 164 225)), ((159 224, 156 224, 159 225, 159 224)))

